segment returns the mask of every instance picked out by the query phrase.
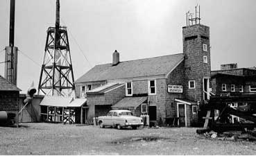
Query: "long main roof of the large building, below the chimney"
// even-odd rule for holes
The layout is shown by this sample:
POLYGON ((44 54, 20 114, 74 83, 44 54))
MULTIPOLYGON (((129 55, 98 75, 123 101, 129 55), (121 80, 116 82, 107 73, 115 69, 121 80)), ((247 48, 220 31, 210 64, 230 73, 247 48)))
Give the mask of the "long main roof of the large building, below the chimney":
POLYGON ((143 76, 165 76, 183 59, 184 54, 179 53, 175 55, 164 55, 155 58, 119 62, 119 64, 115 66, 112 66, 111 63, 100 64, 96 65, 83 76, 78 78, 75 83, 136 78, 143 76))

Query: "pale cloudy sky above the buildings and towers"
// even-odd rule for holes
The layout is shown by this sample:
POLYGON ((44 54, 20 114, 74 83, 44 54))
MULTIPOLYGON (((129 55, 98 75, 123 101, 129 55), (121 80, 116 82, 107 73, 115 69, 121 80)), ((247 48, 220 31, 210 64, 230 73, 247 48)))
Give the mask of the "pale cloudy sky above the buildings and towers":
MULTIPOLYGON (((38 86, 46 30, 55 26, 55 0, 16 0, 17 87, 38 86)), ((221 64, 255 67, 255 0, 60 0, 60 25, 67 26, 75 80, 96 64, 182 53, 185 13, 200 5, 210 26, 212 70, 221 64)), ((0 1, 0 62, 9 41, 10 0, 0 1)), ((4 64, 0 64, 4 76, 4 64)))

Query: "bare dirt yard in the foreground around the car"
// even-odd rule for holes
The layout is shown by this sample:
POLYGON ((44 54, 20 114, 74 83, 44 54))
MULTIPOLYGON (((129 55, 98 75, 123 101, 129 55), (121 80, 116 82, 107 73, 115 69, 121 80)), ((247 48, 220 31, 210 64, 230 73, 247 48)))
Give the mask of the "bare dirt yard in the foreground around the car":
POLYGON ((256 142, 205 139, 196 128, 21 125, 0 127, 0 155, 256 155, 256 142))

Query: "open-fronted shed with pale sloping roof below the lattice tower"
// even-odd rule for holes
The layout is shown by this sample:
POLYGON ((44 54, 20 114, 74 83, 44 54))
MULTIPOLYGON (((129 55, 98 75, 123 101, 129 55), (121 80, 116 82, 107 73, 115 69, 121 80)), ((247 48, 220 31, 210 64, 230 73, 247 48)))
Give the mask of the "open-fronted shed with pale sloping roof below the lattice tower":
POLYGON ((83 123, 87 119, 86 98, 44 96, 41 119, 53 123, 83 123))

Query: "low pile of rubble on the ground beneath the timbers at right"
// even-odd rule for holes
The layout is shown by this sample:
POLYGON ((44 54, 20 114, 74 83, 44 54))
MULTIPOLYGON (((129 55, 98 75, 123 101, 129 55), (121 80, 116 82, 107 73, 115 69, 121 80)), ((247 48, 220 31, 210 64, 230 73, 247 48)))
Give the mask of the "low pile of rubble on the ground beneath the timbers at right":
POLYGON ((230 141, 256 141, 256 129, 243 130, 243 131, 226 131, 226 132, 214 132, 213 130, 205 132, 197 132, 199 135, 205 138, 218 139, 218 140, 230 140, 230 141))

